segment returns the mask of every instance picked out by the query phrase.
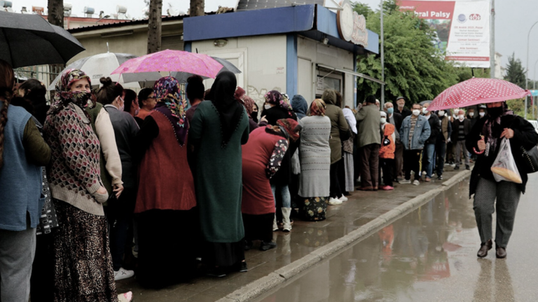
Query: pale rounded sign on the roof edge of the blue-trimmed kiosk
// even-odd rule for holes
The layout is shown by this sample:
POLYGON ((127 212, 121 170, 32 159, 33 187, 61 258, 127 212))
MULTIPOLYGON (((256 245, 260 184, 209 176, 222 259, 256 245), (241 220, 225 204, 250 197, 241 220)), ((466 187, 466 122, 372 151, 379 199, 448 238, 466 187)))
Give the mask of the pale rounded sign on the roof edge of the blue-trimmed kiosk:
POLYGON ((368 31, 366 31, 366 19, 353 10, 353 6, 347 0, 341 1, 343 10, 336 13, 338 34, 348 42, 368 46, 368 31))

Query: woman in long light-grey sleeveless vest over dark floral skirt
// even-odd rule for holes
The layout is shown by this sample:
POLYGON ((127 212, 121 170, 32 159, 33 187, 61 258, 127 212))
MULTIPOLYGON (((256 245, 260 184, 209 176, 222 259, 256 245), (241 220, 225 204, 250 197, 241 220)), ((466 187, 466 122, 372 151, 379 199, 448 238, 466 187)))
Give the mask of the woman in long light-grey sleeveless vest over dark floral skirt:
POLYGON ((331 170, 331 120, 325 116, 326 105, 315 99, 310 105, 310 115, 301 119, 301 175, 299 196, 301 216, 304 220, 324 220, 329 202, 331 170))

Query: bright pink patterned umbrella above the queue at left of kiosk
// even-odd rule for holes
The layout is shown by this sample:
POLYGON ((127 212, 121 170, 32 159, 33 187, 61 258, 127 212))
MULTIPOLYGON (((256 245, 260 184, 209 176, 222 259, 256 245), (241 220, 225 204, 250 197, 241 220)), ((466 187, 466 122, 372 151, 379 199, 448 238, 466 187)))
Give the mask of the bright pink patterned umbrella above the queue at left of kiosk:
MULTIPOLYGON (((181 50, 163 50, 121 64, 111 74, 147 73, 154 71, 179 71, 215 78, 222 64, 208 55, 181 50)), ((158 79, 155 79, 158 80, 158 79)))

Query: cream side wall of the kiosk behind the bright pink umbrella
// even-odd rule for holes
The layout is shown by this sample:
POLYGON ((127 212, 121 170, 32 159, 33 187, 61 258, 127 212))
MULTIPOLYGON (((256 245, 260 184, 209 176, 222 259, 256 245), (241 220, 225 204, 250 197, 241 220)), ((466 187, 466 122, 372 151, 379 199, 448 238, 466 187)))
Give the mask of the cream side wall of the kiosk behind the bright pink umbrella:
MULTIPOLYGON (((242 73, 237 85, 247 91, 258 107, 270 90, 286 92, 286 35, 228 38, 226 45, 216 47, 214 40, 193 41, 191 51, 228 59, 242 73)), ((213 80, 205 80, 209 88, 213 80)))

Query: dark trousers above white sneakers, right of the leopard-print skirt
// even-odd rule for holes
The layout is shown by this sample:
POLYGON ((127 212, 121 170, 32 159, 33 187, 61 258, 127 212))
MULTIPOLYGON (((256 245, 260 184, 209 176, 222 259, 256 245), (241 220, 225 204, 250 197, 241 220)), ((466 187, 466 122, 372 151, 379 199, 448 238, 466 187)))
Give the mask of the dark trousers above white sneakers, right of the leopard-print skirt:
POLYGON ((110 252, 114 271, 121 268, 126 243, 132 243, 132 213, 135 211, 137 190, 125 188, 118 200, 109 201, 106 206, 106 220, 110 228, 110 252), (131 233, 131 236, 127 236, 131 233))

